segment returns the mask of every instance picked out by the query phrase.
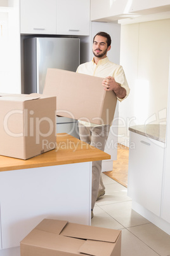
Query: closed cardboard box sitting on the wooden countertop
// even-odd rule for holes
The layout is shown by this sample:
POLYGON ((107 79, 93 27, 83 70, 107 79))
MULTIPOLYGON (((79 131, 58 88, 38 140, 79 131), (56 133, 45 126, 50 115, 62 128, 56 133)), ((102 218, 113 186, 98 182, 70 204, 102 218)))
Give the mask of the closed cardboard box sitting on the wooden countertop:
POLYGON ((56 148, 56 97, 0 94, 0 155, 29 159, 56 148))

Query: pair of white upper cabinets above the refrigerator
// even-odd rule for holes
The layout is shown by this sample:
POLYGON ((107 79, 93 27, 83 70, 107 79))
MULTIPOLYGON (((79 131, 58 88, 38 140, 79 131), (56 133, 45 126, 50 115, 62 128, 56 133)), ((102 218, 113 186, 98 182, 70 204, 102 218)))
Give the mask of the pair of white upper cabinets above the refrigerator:
POLYGON ((90 0, 20 0, 21 34, 89 35, 90 0))

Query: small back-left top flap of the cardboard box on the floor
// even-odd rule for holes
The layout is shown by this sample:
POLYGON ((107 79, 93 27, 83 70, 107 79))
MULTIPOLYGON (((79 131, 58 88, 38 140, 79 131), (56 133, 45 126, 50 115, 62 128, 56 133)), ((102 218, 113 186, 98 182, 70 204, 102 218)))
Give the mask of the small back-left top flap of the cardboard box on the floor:
POLYGON ((67 225, 67 222, 67 220, 51 220, 44 218, 44 220, 42 220, 42 222, 40 222, 35 229, 59 235, 65 225, 67 225))

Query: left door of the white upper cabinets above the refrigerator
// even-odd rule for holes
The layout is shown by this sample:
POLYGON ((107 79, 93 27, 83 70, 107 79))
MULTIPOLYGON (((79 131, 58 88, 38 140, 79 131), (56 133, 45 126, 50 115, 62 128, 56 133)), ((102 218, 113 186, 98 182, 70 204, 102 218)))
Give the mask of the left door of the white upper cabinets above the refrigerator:
POLYGON ((56 34, 56 0, 20 0, 21 34, 56 34))

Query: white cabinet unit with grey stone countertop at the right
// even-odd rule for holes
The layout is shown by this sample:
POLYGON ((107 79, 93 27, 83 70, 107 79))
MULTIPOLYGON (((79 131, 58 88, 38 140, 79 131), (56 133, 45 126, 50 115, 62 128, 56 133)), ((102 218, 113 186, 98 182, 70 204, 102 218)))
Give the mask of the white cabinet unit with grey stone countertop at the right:
POLYGON ((166 125, 135 125, 129 131, 128 196, 132 209, 170 234, 170 190, 164 169, 166 125))

